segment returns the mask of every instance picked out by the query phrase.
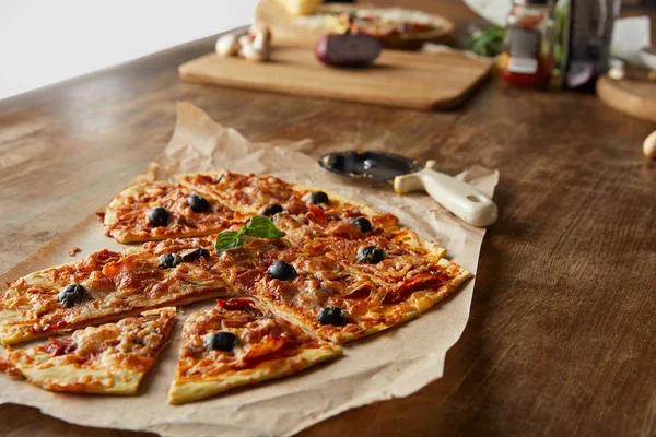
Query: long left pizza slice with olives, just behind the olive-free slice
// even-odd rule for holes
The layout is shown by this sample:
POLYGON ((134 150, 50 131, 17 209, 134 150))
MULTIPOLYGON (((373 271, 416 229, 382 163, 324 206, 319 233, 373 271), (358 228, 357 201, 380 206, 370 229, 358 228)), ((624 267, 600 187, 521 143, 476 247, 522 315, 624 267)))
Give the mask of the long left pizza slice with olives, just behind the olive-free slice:
POLYGON ((147 249, 126 255, 101 250, 14 281, 0 293, 0 342, 19 343, 227 293, 208 264, 210 251, 196 246, 198 240, 186 247, 169 241, 161 244, 159 256, 147 249))

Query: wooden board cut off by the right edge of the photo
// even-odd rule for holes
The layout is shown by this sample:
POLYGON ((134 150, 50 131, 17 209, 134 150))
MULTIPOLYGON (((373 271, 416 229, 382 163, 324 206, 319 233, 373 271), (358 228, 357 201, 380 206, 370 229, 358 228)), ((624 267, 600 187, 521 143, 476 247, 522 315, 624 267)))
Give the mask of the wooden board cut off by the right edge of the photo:
MULTIPOLYGON (((646 75, 646 74, 645 74, 646 75)), ((597 81, 597 95, 607 105, 633 117, 656 122, 656 82, 646 79, 597 81)))

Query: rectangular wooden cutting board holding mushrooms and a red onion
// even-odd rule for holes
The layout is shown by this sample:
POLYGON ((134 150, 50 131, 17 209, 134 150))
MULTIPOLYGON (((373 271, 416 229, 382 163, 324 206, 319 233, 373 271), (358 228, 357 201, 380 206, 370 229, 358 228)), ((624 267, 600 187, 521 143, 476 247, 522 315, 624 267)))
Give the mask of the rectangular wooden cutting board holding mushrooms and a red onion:
POLYGON ((367 68, 333 68, 313 51, 276 47, 270 62, 202 56, 179 67, 183 81, 413 109, 447 109, 461 103, 492 62, 460 52, 383 50, 367 68))

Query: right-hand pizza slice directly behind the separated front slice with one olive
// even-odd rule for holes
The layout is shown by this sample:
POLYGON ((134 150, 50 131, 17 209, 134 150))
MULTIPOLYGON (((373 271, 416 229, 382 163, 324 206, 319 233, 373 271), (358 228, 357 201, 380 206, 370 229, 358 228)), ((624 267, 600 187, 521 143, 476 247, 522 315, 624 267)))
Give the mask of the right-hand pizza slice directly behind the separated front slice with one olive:
POLYGON ((362 260, 337 259, 328 252, 276 261, 265 271, 249 273, 250 293, 307 331, 344 343, 427 311, 471 276, 455 263, 423 256, 413 264, 419 270, 408 270, 402 280, 391 279, 388 272, 407 270, 405 263, 411 256, 386 255, 382 249, 363 251, 362 260), (379 271, 360 269, 359 262, 380 264, 379 271))

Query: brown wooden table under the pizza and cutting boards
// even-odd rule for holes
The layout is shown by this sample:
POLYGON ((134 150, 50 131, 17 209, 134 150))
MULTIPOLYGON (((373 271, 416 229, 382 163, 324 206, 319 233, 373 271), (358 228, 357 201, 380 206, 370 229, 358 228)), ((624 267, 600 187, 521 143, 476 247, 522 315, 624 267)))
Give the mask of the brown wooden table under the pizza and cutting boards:
MULTIPOLYGON (((444 13, 443 2, 408 5, 444 13)), ((656 435, 656 163, 641 153, 656 126, 595 96, 496 80, 435 114, 180 83, 176 67, 213 43, 0 102, 0 270, 139 174, 166 144, 178 99, 250 140, 313 138, 315 155, 349 144, 436 158, 447 173, 499 168, 501 217, 444 377, 302 435, 656 435)), ((19 405, 0 406, 0 424, 4 436, 138 435, 19 405)))

